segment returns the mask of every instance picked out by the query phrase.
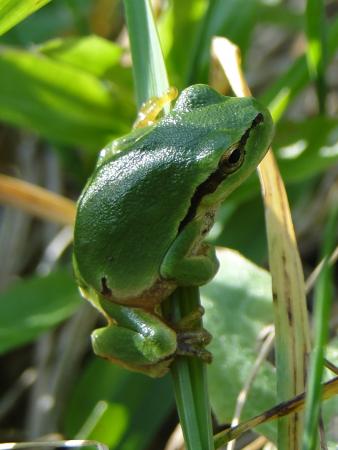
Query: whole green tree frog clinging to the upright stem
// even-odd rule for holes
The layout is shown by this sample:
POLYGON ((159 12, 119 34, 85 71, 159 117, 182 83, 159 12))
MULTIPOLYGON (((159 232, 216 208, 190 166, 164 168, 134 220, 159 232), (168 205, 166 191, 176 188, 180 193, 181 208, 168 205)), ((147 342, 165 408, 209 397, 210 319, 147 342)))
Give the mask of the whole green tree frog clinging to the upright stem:
POLYGON ((176 354, 208 359, 206 332, 187 337, 164 321, 159 304, 176 287, 215 275, 218 261, 203 238, 272 134, 271 116, 255 99, 194 85, 167 116, 101 152, 79 199, 74 235, 81 292, 108 321, 92 334, 95 353, 151 376, 163 375, 176 354))

